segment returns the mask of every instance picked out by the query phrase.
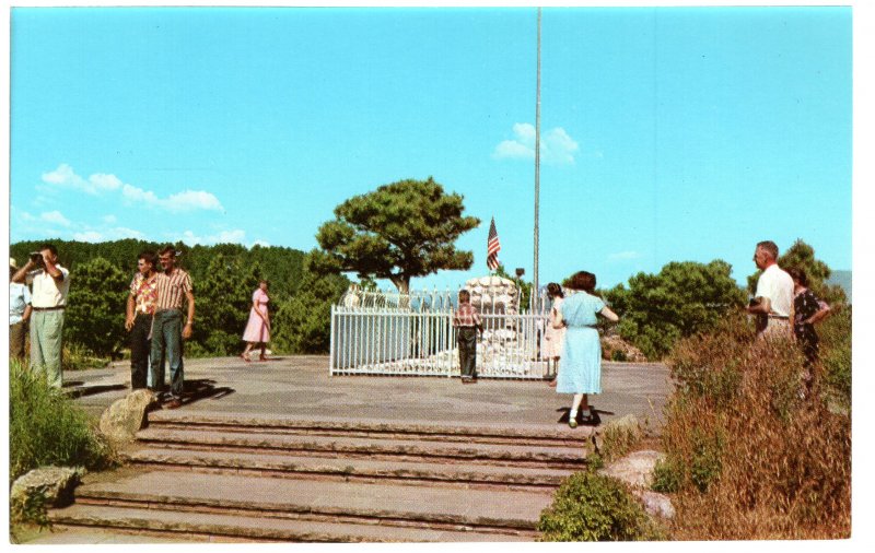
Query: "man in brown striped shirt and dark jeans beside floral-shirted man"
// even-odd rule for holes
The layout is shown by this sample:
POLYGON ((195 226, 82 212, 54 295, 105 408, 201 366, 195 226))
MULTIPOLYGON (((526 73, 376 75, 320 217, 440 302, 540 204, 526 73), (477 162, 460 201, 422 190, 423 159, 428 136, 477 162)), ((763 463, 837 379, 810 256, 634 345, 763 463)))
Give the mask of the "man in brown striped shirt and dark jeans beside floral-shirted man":
POLYGON ((165 246, 159 252, 164 272, 158 273, 158 299, 152 319, 152 391, 164 386, 164 358, 171 364, 171 400, 164 407, 176 409, 183 404, 183 340, 191 338, 195 320, 195 294, 191 278, 176 267, 176 249, 165 246), (183 298, 188 301, 188 317, 183 326, 183 298))

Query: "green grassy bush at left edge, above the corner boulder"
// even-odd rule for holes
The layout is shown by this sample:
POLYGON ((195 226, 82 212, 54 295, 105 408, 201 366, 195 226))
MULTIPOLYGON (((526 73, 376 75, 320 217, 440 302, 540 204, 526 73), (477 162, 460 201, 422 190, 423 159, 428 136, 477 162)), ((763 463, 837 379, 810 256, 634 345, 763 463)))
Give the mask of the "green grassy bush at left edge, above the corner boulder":
POLYGON ((10 483, 37 467, 98 469, 112 459, 112 449, 94 432, 88 413, 26 364, 10 361, 10 483))

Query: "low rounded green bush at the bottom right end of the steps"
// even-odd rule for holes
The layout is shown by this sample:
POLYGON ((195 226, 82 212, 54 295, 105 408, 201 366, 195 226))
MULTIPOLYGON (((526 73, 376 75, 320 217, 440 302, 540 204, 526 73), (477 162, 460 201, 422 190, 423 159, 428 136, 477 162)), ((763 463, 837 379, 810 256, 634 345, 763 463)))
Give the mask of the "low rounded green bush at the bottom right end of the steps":
POLYGON ((568 478, 538 522, 541 541, 641 541, 661 538, 618 480, 586 471, 568 478))

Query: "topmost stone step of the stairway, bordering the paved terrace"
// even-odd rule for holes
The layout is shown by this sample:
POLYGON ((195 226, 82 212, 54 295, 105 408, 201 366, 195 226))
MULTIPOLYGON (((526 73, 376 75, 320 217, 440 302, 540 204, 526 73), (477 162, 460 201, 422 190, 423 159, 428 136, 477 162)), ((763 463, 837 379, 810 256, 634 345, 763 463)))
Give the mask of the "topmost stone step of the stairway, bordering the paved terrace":
MULTIPOLYGON (((413 416, 423 413, 412 413, 413 416)), ((428 413, 424 413, 428 414, 428 413)), ((557 419, 559 414, 557 414, 557 419)), ((369 419, 326 419, 303 416, 252 415, 212 411, 165 411, 149 413, 152 427, 203 428, 217 431, 257 431, 272 434, 308 434, 323 436, 385 437, 435 442, 464 442, 483 444, 530 444, 542 446, 582 445, 593 428, 575 430, 564 424, 515 424, 502 421, 481 423, 454 422, 441 424, 407 419, 400 421, 369 419)))

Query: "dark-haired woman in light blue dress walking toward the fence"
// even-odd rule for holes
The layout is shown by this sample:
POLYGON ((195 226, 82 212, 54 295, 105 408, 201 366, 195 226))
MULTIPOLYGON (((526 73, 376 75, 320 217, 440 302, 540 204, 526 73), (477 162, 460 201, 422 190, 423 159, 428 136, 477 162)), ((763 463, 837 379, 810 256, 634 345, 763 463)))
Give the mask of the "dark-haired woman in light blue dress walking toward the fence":
POLYGON ((562 370, 556 386, 557 393, 573 393, 568 425, 578 426, 578 410, 584 422, 593 419, 587 395, 602 393, 602 344, 596 330, 596 315, 616 322, 617 314, 605 302, 594 295, 595 274, 586 271, 574 273, 565 283, 567 289, 579 291, 567 297, 559 307, 559 318, 567 325, 562 348, 562 370))

